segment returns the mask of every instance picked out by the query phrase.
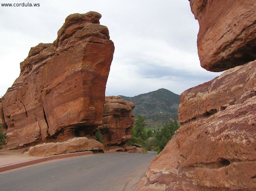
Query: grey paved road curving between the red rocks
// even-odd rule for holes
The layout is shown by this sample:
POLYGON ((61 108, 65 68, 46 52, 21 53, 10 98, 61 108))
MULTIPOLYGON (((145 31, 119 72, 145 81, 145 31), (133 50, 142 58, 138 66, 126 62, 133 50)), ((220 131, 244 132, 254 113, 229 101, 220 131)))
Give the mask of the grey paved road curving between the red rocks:
POLYGON ((148 169, 149 154, 94 154, 0 174, 1 191, 129 191, 148 169))

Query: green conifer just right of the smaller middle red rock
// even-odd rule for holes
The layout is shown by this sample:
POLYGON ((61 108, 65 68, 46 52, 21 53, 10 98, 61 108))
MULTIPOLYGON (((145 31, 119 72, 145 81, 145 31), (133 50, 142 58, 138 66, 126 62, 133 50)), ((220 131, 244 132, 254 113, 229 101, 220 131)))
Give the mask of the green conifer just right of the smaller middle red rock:
POLYGON ((143 140, 146 140, 146 130, 145 127, 147 124, 145 123, 146 118, 142 117, 141 115, 134 121, 134 128, 132 128, 132 136, 133 137, 140 137, 143 140))

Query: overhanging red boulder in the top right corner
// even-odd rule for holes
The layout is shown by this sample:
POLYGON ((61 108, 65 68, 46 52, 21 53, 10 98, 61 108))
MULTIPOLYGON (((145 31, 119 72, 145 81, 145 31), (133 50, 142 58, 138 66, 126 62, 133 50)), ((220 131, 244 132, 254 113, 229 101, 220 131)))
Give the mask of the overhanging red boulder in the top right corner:
POLYGON ((224 71, 256 59, 256 0, 190 0, 201 66, 224 71))

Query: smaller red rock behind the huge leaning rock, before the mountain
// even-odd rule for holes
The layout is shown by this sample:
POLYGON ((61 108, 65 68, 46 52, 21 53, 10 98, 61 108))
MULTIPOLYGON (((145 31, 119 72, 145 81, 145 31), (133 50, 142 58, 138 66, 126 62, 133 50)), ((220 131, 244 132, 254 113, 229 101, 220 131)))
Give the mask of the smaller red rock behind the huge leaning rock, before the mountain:
POLYGON ((105 98, 102 125, 98 127, 105 146, 108 144, 108 134, 112 134, 110 145, 124 144, 131 139, 134 124, 132 109, 134 107, 132 102, 125 101, 119 96, 105 98))

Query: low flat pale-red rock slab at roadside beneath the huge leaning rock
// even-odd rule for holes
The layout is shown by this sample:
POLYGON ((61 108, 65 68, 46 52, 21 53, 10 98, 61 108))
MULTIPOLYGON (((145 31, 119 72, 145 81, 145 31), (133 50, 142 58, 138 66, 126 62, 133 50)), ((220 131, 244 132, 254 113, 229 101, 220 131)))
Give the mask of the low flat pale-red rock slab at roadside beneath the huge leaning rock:
POLYGON ((44 157, 103 149, 103 144, 94 139, 88 139, 86 137, 75 137, 64 142, 38 144, 36 146, 30 147, 28 154, 30 156, 44 157))

